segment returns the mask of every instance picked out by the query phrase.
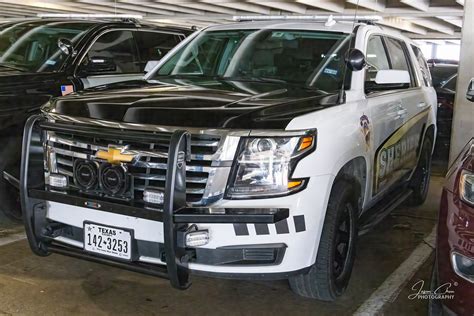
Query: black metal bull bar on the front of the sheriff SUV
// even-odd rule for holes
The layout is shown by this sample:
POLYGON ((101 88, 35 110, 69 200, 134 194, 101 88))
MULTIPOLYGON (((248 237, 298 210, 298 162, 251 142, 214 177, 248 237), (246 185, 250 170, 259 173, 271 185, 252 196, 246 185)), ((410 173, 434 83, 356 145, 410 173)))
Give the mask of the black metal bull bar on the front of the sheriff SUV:
MULTIPOLYGON (((59 124, 56 124, 59 125, 59 124)), ((54 130, 55 124, 44 121, 43 116, 30 117, 24 128, 23 150, 20 172, 20 194, 23 221, 32 251, 39 256, 59 253, 75 258, 94 261, 110 266, 145 273, 170 280, 173 287, 186 289, 190 286, 190 249, 186 249, 183 236, 190 224, 196 223, 276 223, 289 216, 288 209, 220 209, 212 212, 206 207, 188 207, 186 204, 186 162, 191 157, 191 135, 184 130, 171 135, 168 152, 163 212, 128 206, 105 200, 94 200, 81 196, 51 192, 45 189, 44 151, 41 143, 43 129, 54 130), (33 150, 33 149, 36 150, 33 150), (55 230, 60 223, 51 224, 46 218, 46 202, 94 208, 115 214, 145 218, 163 222, 164 255, 166 267, 142 262, 122 262, 105 256, 90 254, 80 248, 54 241, 55 230), (88 202, 88 203, 85 203, 88 202)), ((83 133, 97 133, 94 127, 83 133)), ((214 209, 215 210, 215 209, 214 209)), ((191 249, 192 251, 192 249, 191 249)))

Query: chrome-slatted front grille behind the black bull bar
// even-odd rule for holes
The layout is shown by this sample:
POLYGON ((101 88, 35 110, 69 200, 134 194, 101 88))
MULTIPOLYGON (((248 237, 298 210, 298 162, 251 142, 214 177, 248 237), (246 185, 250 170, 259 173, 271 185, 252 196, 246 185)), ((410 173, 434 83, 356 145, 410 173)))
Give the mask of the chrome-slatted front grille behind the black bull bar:
MULTIPOLYGON (((108 130, 94 134, 67 131, 47 131, 47 143, 52 152, 50 159, 51 172, 58 172, 68 177, 70 189, 79 190, 74 184, 73 165, 76 159, 94 160, 98 150, 108 150, 109 146, 127 146, 127 150, 139 153, 135 163, 126 163, 129 174, 133 179, 133 198, 143 200, 145 189, 164 191, 167 167, 167 155, 170 133, 150 132, 148 140, 129 141, 127 131, 123 139, 116 137, 116 131, 108 135, 108 130), (152 140, 152 141, 151 141, 152 140)), ((129 132, 129 131, 128 131, 129 132)), ((208 182, 212 157, 219 146, 220 137, 216 135, 191 136, 191 162, 186 165, 186 193, 189 203, 200 203, 208 182)))

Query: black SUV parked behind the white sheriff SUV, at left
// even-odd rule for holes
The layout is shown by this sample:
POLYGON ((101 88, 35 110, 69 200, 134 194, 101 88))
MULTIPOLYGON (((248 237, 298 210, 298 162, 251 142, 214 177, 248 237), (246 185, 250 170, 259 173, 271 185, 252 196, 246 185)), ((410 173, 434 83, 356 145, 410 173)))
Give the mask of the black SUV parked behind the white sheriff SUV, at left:
MULTIPOLYGON (((190 30, 135 20, 35 19, 0 26, 0 201, 16 214, 21 133, 52 97, 141 79, 190 30)), ((19 209, 18 209, 19 211, 19 209)))

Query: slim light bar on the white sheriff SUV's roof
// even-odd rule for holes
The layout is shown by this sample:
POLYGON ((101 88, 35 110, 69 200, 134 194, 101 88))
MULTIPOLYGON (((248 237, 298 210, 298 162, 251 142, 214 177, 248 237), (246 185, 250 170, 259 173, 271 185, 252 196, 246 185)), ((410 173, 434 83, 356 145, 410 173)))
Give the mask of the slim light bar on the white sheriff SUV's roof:
MULTIPOLYGON (((268 21, 268 20, 304 20, 304 21, 328 21, 330 15, 240 15, 234 16, 234 21, 268 21)), ((379 15, 335 15, 334 21, 380 21, 379 15)))

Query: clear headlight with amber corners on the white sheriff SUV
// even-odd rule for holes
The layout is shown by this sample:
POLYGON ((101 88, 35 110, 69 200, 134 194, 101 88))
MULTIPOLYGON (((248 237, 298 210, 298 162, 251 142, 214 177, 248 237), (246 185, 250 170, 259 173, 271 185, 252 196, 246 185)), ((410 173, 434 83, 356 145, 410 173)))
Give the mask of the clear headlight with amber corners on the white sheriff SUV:
POLYGON ((292 179, 298 160, 315 148, 315 134, 297 137, 245 137, 240 140, 226 191, 228 199, 294 193, 307 179, 292 179))

